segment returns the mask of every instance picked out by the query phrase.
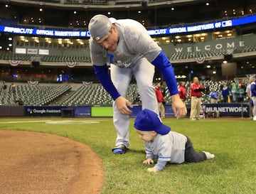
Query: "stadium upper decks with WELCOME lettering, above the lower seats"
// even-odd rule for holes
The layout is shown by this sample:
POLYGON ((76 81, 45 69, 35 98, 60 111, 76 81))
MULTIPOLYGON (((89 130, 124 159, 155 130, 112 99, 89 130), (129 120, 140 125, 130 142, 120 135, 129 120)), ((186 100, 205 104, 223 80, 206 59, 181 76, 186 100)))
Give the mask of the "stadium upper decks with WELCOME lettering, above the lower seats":
MULTIPOLYGON (((140 1, 122 1, 127 4, 121 4, 121 1, 29 2, 8 1, 5 4, 5 1, 1 1, 0 25, 38 28, 41 32, 49 29, 49 33, 53 29, 58 32, 87 31, 91 16, 100 13, 115 18, 134 18, 148 29, 161 31, 163 28, 183 29, 184 26, 198 27, 254 16, 256 10, 255 1, 146 1, 146 6, 140 1)), ((232 54, 233 62, 237 64, 238 71, 232 76, 255 72, 255 31, 253 21, 225 28, 158 33, 152 36, 171 59, 176 75, 188 78, 193 72, 194 75, 207 75, 208 78, 215 77, 218 80, 223 77, 221 65, 225 55, 232 54)), ((23 72, 19 77, 27 78, 31 77, 31 72, 35 75, 33 72, 36 71, 36 76, 33 76, 36 79, 58 78, 63 72, 70 77, 78 75, 81 80, 92 79, 91 75, 87 76, 87 73, 92 73, 87 36, 55 37, 51 34, 43 36, 2 32, 0 43, 1 77, 21 75, 23 72), (14 67, 15 61, 18 66, 14 67), (31 67, 33 61, 40 64, 36 69, 33 65, 31 67), (50 75, 46 75, 46 72, 50 75)))

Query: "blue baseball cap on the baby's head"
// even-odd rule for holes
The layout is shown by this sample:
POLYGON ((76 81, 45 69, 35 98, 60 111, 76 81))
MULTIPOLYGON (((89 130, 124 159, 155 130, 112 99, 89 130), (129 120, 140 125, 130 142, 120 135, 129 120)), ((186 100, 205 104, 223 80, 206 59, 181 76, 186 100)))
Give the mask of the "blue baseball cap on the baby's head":
POLYGON ((137 114, 134 128, 140 131, 156 131, 161 135, 166 135, 171 131, 171 127, 163 124, 159 115, 149 109, 143 109, 137 114))

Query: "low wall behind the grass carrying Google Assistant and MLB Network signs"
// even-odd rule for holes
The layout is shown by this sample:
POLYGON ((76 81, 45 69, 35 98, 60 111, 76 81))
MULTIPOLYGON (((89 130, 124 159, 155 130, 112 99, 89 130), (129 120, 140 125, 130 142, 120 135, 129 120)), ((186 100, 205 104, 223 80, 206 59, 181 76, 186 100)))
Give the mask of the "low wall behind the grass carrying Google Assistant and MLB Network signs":
MULTIPOLYGON (((131 117, 136 117, 142 110, 141 105, 134 105, 131 117)), ((171 105, 165 105, 166 117, 174 117, 171 105)), ((190 114, 190 105, 187 106, 190 114)), ((220 117, 250 117, 250 107, 246 103, 203 104, 202 112, 219 112, 220 117)), ((0 106, 0 117, 112 117, 109 106, 0 106)))

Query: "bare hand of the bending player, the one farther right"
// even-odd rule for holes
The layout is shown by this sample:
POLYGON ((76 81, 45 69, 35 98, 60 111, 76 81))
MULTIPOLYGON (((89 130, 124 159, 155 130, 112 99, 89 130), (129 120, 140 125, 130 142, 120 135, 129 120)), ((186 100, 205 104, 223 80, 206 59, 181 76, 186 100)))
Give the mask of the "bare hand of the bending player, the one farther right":
POLYGON ((181 98, 178 94, 171 96, 171 107, 174 110, 174 115, 177 119, 186 117, 186 105, 181 101, 181 98))

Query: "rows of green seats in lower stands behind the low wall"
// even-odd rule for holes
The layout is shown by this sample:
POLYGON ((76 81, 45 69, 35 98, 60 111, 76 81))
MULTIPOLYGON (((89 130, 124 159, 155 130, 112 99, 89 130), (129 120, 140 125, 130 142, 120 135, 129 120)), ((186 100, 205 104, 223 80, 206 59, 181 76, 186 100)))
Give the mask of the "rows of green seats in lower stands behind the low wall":
MULTIPOLYGON (((212 80, 203 80, 201 84, 204 87, 208 87, 208 91, 202 93, 202 103, 210 103, 210 89, 214 88, 219 95, 219 102, 223 100, 221 95, 221 82, 215 82, 212 80)), ((189 89, 191 82, 186 82, 186 104, 191 104, 189 99, 189 89)), ((247 85, 247 82, 245 82, 247 85)), ((102 85, 94 83, 92 85, 78 86, 77 90, 73 91, 72 95, 66 95, 71 90, 70 85, 42 85, 42 86, 28 86, 17 85, 16 93, 11 92, 11 86, 7 87, 7 92, 0 94, 1 105, 16 105, 16 100, 21 97, 24 105, 61 105, 61 106, 94 106, 103 105, 111 106, 112 98, 105 91, 102 85), (65 96, 65 97, 63 97, 65 96)), ((166 104, 171 104, 171 97, 168 88, 166 88, 165 99, 166 104)), ((132 83, 128 87, 127 99, 133 104, 140 104, 139 93, 137 85, 132 83)), ((247 102, 248 98, 245 97, 244 102, 247 102)))

